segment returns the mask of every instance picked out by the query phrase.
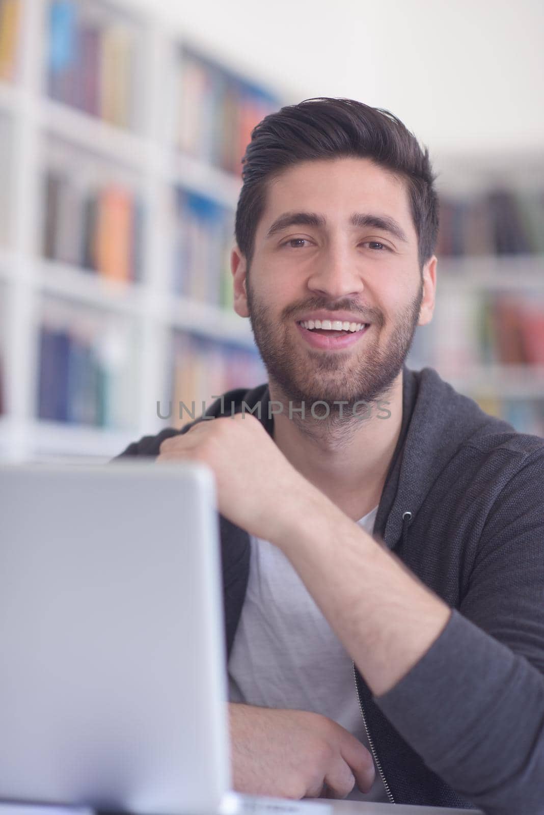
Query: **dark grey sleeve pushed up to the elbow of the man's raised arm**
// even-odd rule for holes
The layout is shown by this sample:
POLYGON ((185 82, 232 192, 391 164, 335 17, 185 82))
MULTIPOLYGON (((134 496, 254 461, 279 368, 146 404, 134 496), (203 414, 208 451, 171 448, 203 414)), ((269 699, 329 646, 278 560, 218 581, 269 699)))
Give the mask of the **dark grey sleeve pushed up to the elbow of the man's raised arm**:
POLYGON ((467 592, 375 703, 428 767, 489 815, 544 813, 544 452, 488 514, 467 592))

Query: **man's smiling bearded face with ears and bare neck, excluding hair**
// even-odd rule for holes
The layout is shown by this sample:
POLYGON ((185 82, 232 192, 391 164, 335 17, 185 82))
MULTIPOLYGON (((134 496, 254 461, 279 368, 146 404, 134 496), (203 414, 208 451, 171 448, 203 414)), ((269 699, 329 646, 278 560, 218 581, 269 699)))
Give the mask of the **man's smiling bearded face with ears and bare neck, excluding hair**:
POLYGON ((235 310, 251 319, 281 405, 274 441, 356 521, 384 486, 401 368, 432 317, 436 264, 420 272, 405 183, 353 157, 304 161, 270 183, 251 274, 233 251, 235 310))

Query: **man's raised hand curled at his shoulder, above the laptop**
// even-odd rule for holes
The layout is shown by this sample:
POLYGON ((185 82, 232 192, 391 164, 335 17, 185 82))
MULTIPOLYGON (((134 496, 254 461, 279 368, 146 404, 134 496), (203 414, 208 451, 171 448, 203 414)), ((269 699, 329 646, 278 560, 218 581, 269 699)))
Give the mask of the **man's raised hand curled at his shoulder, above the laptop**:
POLYGON ((274 543, 283 519, 301 511, 305 496, 322 493, 296 470, 251 413, 200 421, 165 438, 156 462, 200 461, 216 478, 219 512, 250 535, 274 543))

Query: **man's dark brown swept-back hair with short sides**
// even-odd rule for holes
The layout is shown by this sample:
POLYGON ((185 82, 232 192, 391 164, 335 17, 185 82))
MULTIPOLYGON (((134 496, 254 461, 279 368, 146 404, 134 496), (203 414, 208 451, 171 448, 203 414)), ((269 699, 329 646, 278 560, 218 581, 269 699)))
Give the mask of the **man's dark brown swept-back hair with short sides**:
POLYGON ((242 159, 243 187, 236 208, 235 238, 248 267, 267 183, 300 161, 369 158, 406 181, 418 236, 419 269, 432 257, 438 234, 438 196, 428 148, 388 110, 354 99, 316 97, 265 116, 251 133, 242 159))

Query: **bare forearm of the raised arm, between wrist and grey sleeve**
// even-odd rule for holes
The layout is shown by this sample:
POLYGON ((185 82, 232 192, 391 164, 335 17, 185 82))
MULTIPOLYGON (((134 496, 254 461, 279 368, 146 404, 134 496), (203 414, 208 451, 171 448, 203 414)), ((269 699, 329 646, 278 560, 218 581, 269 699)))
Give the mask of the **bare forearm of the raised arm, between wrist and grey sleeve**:
POLYGON ((321 493, 283 518, 282 549, 373 694, 440 636, 450 607, 321 493))

